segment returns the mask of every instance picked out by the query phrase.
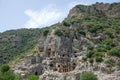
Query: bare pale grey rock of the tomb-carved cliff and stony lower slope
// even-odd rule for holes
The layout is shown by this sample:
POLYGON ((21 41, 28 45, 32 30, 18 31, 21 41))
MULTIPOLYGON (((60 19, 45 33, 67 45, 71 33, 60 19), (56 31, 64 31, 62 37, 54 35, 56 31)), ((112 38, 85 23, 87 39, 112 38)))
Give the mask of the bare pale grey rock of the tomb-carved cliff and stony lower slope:
MULTIPOLYGON (((73 26, 72 28, 74 29, 73 26)), ((97 42, 97 39, 105 39, 105 36, 101 33, 89 34, 87 38, 75 36, 72 28, 65 36, 56 36, 55 30, 52 30, 49 35, 40 39, 38 51, 41 55, 26 56, 23 62, 13 68, 14 72, 22 78, 35 74, 40 76, 40 80, 80 80, 80 74, 90 71, 95 73, 99 80, 119 80, 119 68, 107 67, 104 63, 91 64, 82 61, 87 52, 87 44, 97 47, 88 38, 97 42)), ((117 58, 111 60, 119 62, 117 58)))

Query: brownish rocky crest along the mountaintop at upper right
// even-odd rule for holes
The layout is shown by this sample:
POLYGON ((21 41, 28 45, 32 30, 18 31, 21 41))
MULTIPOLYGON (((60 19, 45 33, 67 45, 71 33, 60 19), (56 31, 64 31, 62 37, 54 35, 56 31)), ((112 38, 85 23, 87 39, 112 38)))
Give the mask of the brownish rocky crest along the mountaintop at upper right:
POLYGON ((102 15, 107 17, 119 17, 120 16, 120 8, 119 3, 99 3, 93 5, 77 5, 73 9, 70 10, 68 18, 73 16, 81 16, 82 13, 92 14, 92 15, 102 15))

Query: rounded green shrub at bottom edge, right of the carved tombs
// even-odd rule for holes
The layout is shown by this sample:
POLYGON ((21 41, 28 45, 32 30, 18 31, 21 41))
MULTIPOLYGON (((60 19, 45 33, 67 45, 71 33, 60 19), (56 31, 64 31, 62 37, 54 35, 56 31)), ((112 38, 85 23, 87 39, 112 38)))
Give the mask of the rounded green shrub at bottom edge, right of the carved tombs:
POLYGON ((81 74, 80 80, 98 80, 98 78, 92 72, 84 72, 81 74))

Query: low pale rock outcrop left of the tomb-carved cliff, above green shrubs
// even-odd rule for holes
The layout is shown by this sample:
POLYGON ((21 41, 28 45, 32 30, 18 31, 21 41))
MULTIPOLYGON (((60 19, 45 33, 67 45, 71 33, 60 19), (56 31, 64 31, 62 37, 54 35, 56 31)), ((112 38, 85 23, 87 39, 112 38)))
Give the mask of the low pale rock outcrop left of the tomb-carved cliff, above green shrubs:
POLYGON ((39 55, 28 55, 19 64, 12 67, 14 73, 21 75, 21 78, 26 78, 31 74, 43 74, 43 66, 41 65, 43 58, 39 55))

